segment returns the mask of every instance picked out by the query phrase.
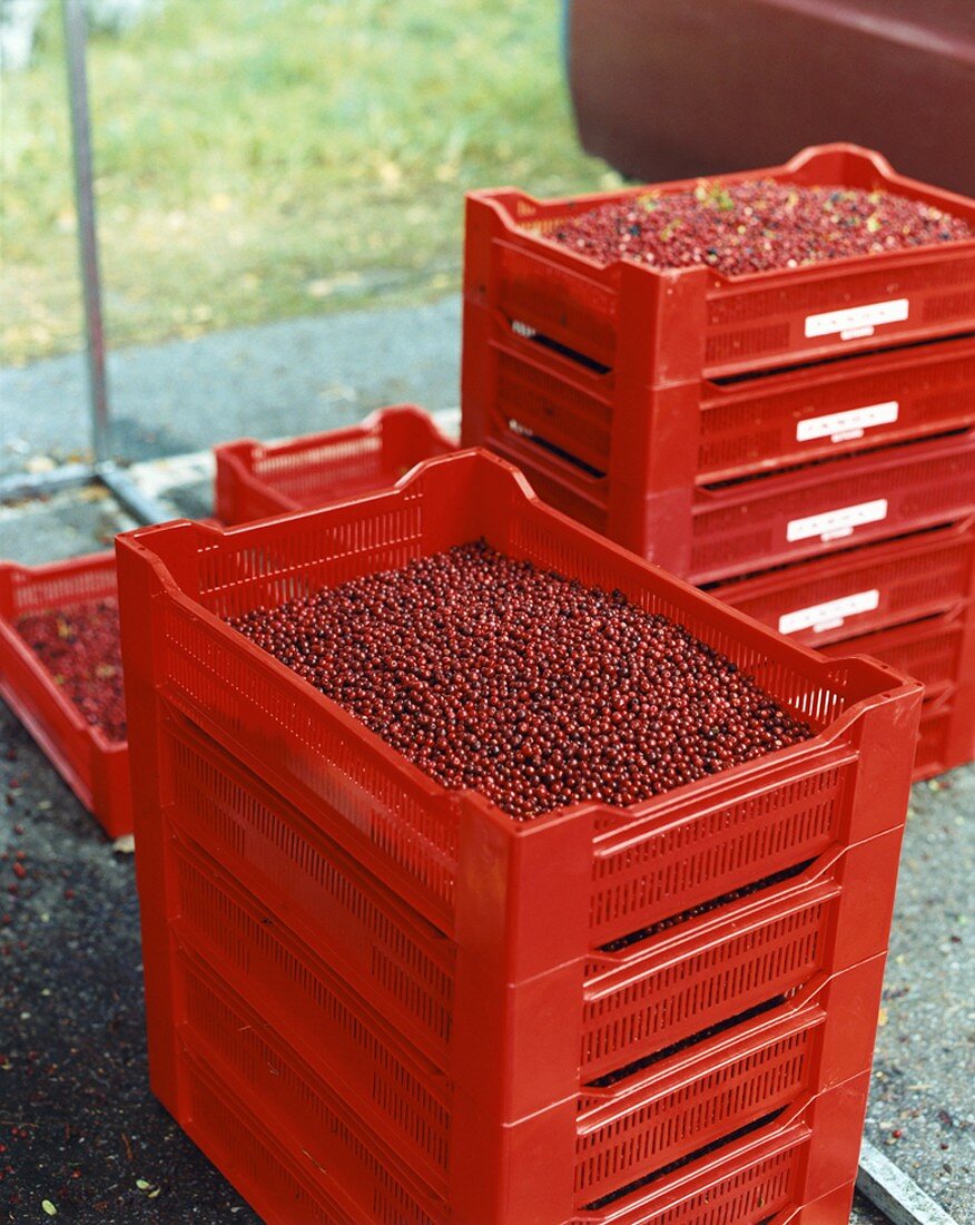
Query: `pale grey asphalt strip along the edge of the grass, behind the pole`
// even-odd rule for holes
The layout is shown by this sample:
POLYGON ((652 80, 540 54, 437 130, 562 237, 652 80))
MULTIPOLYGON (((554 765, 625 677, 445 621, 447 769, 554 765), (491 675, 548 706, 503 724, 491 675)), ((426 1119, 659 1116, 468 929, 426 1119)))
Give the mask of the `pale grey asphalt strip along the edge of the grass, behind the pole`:
MULTIPOLYGON (((136 345, 108 356, 110 451, 181 454, 350 425, 383 404, 459 403, 461 303, 359 310, 136 345)), ((0 478, 88 451, 81 354, 0 369, 0 478)))

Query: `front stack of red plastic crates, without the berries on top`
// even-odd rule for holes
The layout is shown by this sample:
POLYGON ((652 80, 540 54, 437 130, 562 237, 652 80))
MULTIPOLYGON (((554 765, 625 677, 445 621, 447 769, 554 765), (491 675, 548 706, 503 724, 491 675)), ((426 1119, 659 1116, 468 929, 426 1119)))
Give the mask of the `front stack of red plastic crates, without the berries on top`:
POLYGON ((720 1202, 758 1225, 843 1199, 919 684, 788 642, 476 451, 118 559, 152 1084, 267 1219, 691 1225, 720 1202), (478 537, 680 621, 815 736, 518 823, 224 620, 478 537))

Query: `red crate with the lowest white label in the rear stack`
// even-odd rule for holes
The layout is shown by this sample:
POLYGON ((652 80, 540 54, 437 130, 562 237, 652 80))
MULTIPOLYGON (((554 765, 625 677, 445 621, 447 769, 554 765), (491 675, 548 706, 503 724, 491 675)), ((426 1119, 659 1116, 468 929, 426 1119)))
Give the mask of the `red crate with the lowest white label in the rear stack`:
POLYGON ((917 621, 975 600, 975 518, 709 590, 807 647, 917 621))

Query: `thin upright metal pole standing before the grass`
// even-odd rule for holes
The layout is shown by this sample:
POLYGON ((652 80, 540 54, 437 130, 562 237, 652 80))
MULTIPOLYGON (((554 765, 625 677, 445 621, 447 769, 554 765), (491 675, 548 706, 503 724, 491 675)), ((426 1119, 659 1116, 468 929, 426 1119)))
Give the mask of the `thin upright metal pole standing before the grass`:
POLYGON ((67 91, 71 103, 71 147, 75 156, 75 208, 78 219, 78 258, 85 295, 88 349, 88 403, 96 464, 109 459, 105 333, 102 326, 102 289, 98 276, 98 235, 94 217, 92 140, 88 123, 88 80, 85 70, 85 0, 62 0, 67 91))

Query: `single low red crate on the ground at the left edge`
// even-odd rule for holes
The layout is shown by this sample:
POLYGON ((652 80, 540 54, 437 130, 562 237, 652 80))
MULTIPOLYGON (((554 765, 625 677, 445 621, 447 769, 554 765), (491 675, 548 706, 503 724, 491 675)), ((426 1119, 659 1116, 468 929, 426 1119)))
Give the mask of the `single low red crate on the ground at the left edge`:
POLYGON ((129 746, 92 726, 16 630, 31 612, 116 594, 111 552, 45 566, 0 562, 0 696, 110 838, 132 831, 129 746))

